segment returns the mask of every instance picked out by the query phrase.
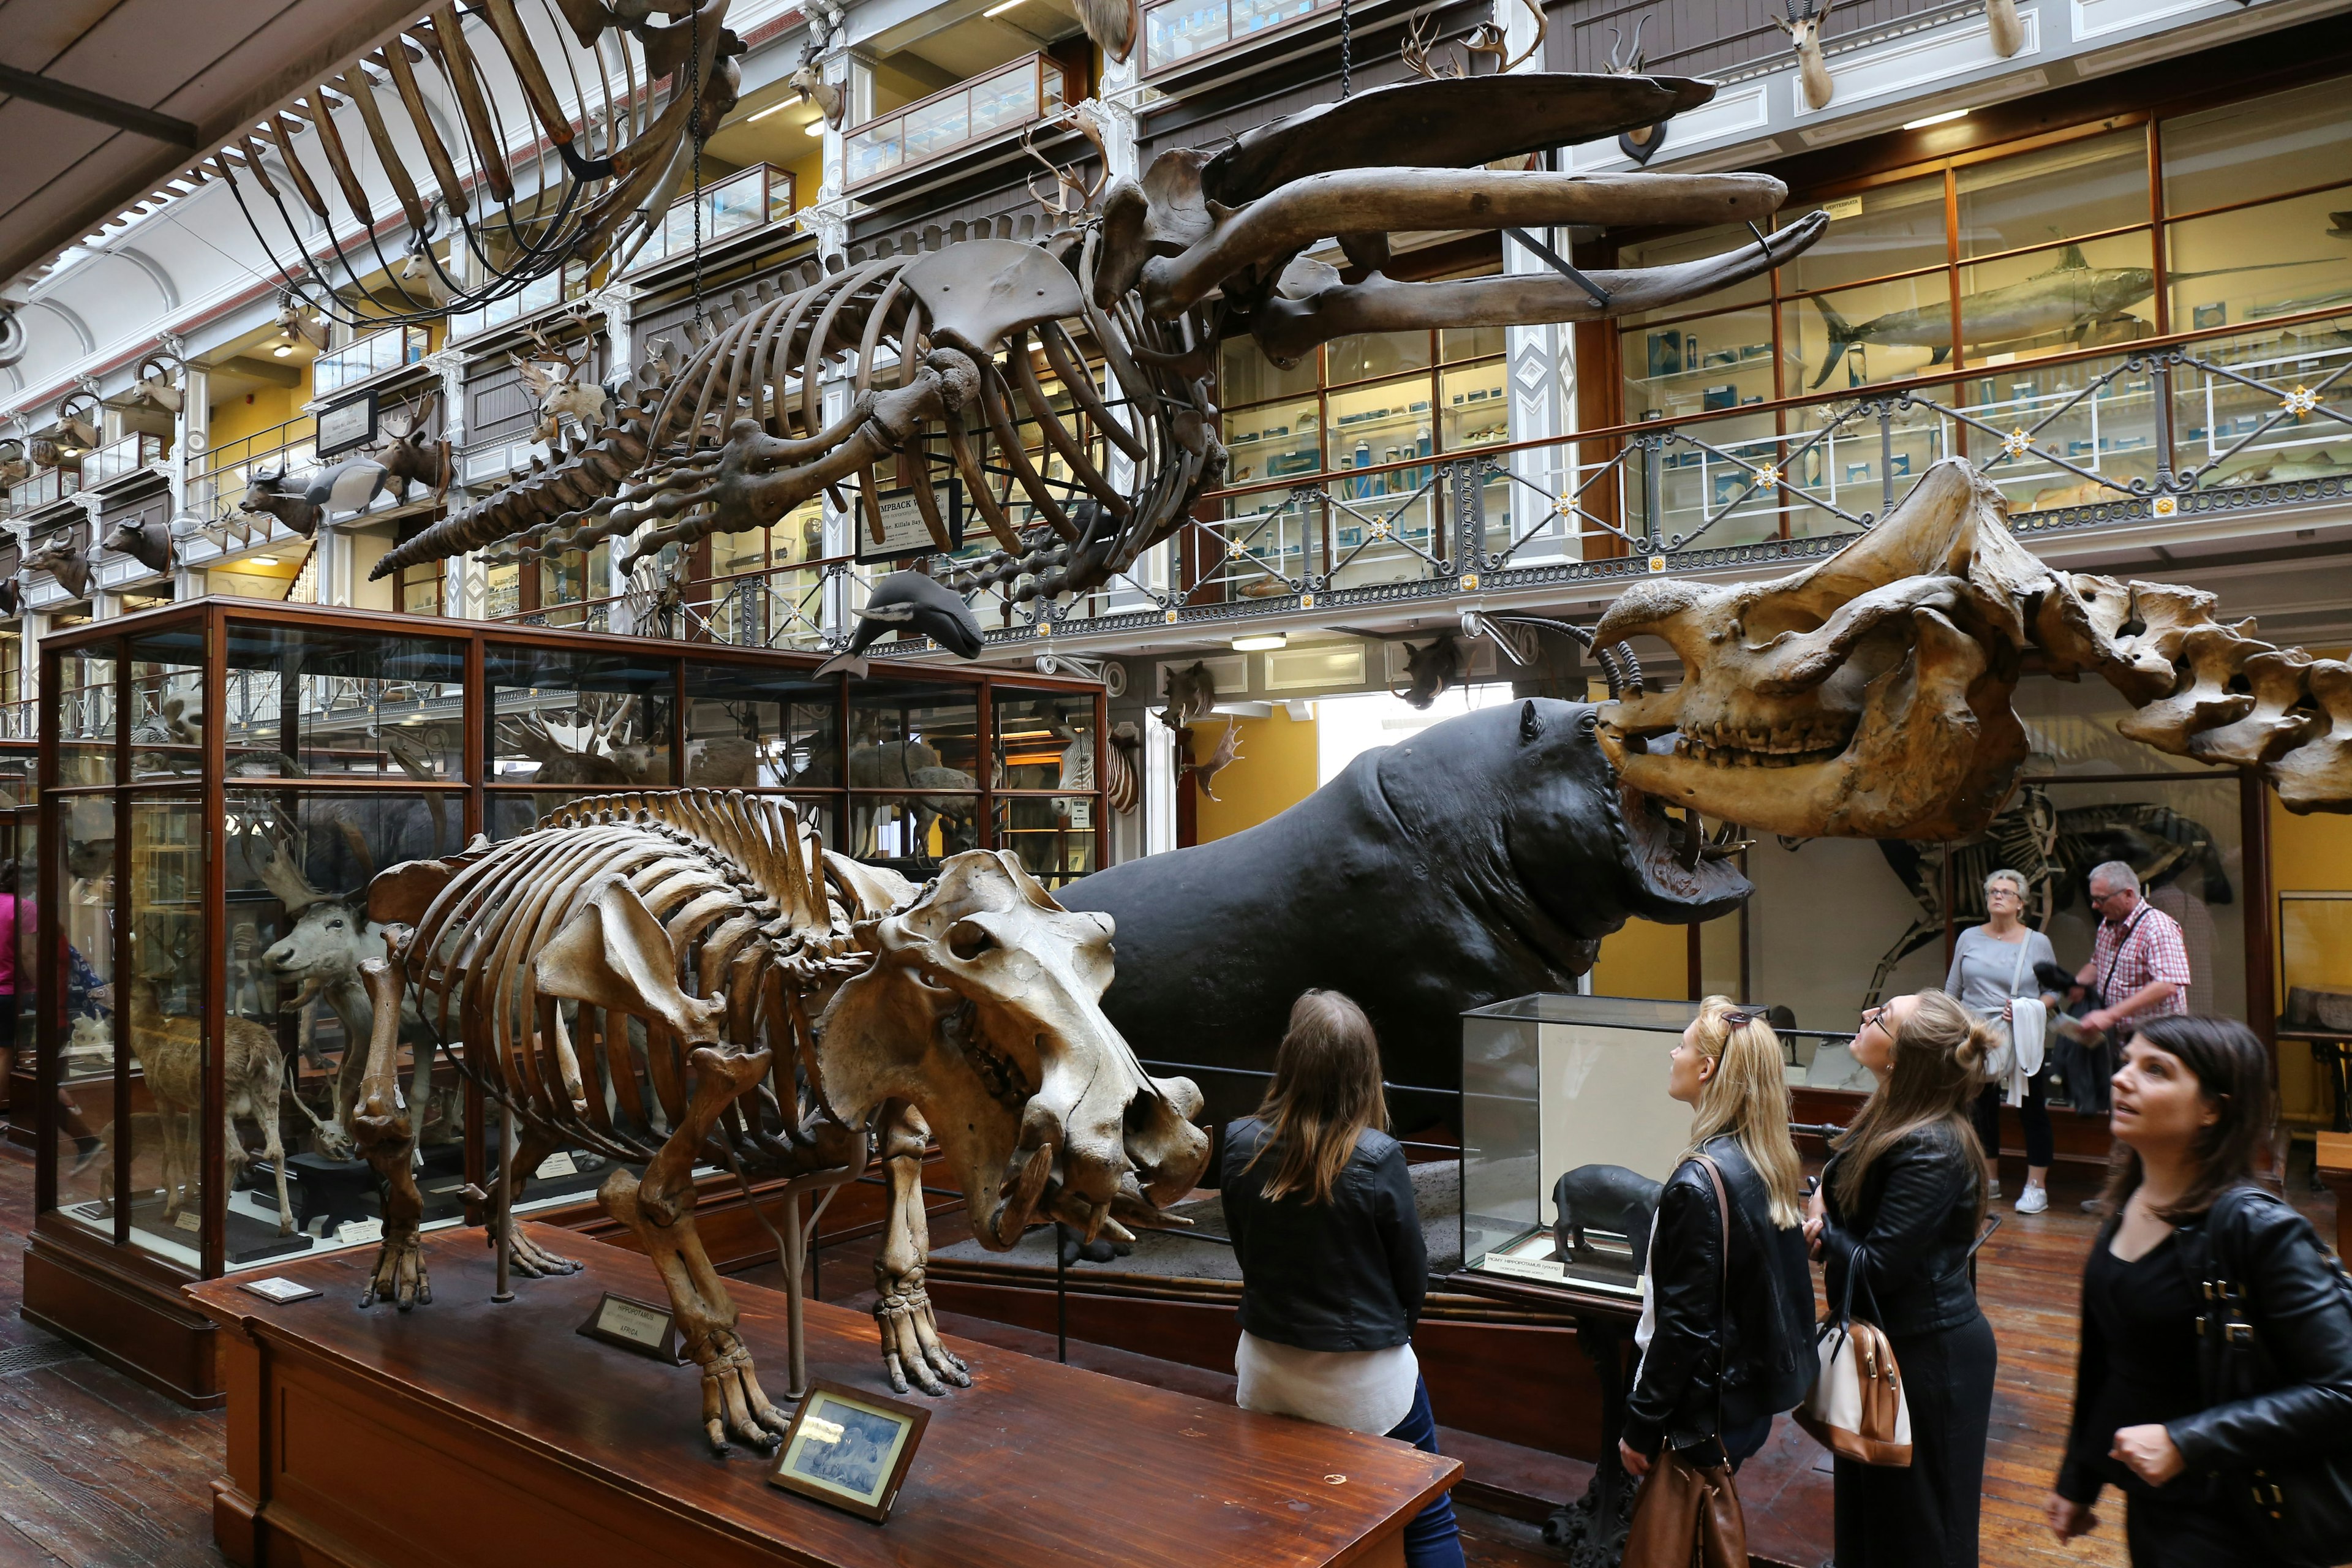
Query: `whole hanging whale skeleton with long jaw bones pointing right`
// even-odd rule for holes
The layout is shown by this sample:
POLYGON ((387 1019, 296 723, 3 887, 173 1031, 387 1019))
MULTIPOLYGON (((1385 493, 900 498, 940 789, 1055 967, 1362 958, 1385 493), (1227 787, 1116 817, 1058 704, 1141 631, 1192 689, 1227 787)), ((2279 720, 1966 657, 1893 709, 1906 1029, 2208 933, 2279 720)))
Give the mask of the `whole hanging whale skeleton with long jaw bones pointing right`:
MULTIPOLYGON (((1221 150, 1160 153, 1044 242, 931 235, 741 306, 652 409, 517 480, 376 564, 376 576, 501 545, 543 559, 633 536, 670 543, 767 527, 856 484, 906 489, 938 552, 934 489, 962 482, 997 550, 948 578, 1011 602, 1087 592, 1134 567, 1221 482, 1216 353, 1242 322, 1291 364, 1329 339, 1425 327, 1576 322, 1755 277, 1811 247, 1809 214, 1703 261, 1588 275, 1397 282, 1390 235, 1562 223, 1738 223, 1788 190, 1764 174, 1555 174, 1486 165, 1656 125, 1708 82, 1642 75, 1416 80, 1287 115, 1221 150), (1395 167, 1411 148, 1421 167, 1395 167), (1327 235, 1364 275, 1308 252, 1327 235), (851 369, 823 414, 826 367, 851 369), (1056 409, 1056 404, 1063 404, 1056 409), (1054 463, 1023 454, 1035 423, 1054 463), (1042 473, 1049 468, 1054 473, 1042 473), (1068 477, 1058 477, 1058 475, 1068 477), (642 531, 640 531, 642 529, 642 531)), ((1002 235, 1002 230, 1000 230, 1002 235)))

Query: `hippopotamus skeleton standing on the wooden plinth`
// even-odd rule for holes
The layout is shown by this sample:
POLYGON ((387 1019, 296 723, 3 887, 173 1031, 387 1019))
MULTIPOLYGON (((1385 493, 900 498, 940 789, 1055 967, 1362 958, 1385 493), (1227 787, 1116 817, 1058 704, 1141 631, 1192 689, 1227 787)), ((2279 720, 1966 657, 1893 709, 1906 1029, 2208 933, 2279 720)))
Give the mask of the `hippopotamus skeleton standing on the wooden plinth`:
POLYGON ((828 853, 781 799, 607 795, 503 844, 395 865, 369 900, 397 931, 390 961, 362 964, 374 1034, 353 1135, 388 1197, 360 1305, 433 1300, 397 1093, 414 990, 459 1067, 515 1112, 501 1180, 555 1150, 621 1161, 597 1197, 661 1269, 720 1453, 771 1450, 788 1420, 694 1229, 696 1164, 750 1180, 856 1175, 880 1157, 884 1371, 898 1392, 943 1394, 969 1375, 924 1293, 934 1131, 1000 1251, 1033 1218, 1089 1239, 1183 1225, 1162 1204, 1209 1161, 1200 1091, 1145 1077, 1103 1018, 1110 922, 1056 905, 1009 853, 953 856, 915 889, 828 853))

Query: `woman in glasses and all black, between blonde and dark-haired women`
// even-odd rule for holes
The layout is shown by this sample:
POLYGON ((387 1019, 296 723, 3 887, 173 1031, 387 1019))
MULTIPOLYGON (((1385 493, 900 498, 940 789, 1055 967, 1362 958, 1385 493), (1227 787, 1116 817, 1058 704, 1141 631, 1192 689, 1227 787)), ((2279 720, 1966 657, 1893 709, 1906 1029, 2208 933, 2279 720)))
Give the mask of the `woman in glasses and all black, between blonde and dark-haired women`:
POLYGON ((1839 1135, 1806 1232, 1830 1305, 1851 1300, 1893 1345, 1912 1462, 1837 1460, 1837 1568, 1976 1568, 1997 1352, 1969 1281, 1985 1220, 1969 1107, 1992 1044, 1938 990, 1870 1009, 1853 1037, 1879 1086, 1839 1135))

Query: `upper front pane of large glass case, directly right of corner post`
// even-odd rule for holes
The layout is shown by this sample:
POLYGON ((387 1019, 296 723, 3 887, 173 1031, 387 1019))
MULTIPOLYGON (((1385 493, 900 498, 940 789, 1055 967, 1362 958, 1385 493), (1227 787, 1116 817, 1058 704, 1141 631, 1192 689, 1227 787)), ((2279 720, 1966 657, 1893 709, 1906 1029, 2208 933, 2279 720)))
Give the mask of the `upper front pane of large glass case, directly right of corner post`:
POLYGON ((447 637, 230 621, 230 776, 459 783, 463 649, 447 637))

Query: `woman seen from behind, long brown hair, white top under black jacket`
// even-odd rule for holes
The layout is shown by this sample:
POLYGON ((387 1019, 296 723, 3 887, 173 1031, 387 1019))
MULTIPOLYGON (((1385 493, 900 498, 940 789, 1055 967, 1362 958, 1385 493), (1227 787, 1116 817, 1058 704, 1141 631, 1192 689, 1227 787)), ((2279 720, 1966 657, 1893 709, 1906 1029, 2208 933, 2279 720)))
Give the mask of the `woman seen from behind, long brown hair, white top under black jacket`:
MULTIPOLYGON (((1414 1359, 1430 1258, 1404 1145, 1385 1128, 1371 1020, 1338 992, 1305 992, 1265 1100, 1225 1128, 1225 1229, 1242 1265, 1235 1399, 1437 1453, 1414 1359)), ((1404 1528, 1404 1561, 1461 1568, 1451 1493, 1404 1528)))

